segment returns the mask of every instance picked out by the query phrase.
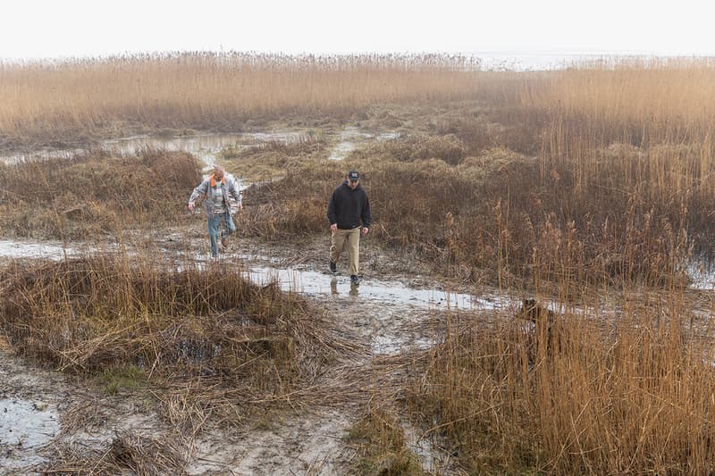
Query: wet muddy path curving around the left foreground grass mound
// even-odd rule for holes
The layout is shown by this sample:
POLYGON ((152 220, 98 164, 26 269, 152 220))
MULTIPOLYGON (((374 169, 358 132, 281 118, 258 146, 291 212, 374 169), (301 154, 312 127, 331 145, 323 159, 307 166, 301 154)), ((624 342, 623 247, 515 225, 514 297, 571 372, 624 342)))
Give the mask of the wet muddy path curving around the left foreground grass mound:
MULTIPOLYGON (((357 447, 349 430, 367 402, 391 405, 409 372, 409 356, 433 346, 456 312, 511 306, 493 289, 470 294, 433 280, 418 266, 406 274, 407 263, 400 263, 400 256, 384 255, 369 240, 362 247, 364 280, 355 287, 344 272, 332 275, 327 270, 327 237, 295 246, 236 238, 219 263, 206 259, 202 220, 139 237, 132 246, 155 247, 154 259, 167 266, 186 260, 240 266, 250 280, 278 281, 283 290, 306 296, 331 323, 330 331, 352 343, 349 352, 338 355, 287 410, 259 415, 240 427, 206 424, 191 434, 167 424, 150 398, 107 395, 71 376, 38 369, 14 357, 5 342, 0 347, 0 415, 5 415, 0 417, 0 474, 40 473, 47 467, 68 470, 57 462, 98 460, 122 438, 171 442, 169 449, 187 474, 355 472, 357 447), (20 421, 27 424, 21 427, 20 421)), ((0 243, 0 255, 63 259, 91 246, 97 245, 6 241, 0 243)), ((115 246, 109 243, 97 250, 115 246)), ((340 266, 346 265, 343 256, 340 266)), ((403 422, 408 445, 426 472, 459 473, 448 453, 420 439, 424 430, 416 429, 408 415, 403 422)))

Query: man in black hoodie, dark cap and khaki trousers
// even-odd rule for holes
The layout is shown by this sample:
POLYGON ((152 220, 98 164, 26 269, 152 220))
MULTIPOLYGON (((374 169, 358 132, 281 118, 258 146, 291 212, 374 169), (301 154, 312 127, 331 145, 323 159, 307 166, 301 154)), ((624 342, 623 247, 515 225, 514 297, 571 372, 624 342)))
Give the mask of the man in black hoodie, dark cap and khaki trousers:
POLYGON ((360 174, 349 171, 345 181, 335 188, 328 203, 328 220, 332 233, 330 271, 338 272, 338 258, 347 244, 350 258, 350 282, 359 284, 360 234, 370 230, 370 202, 360 187, 360 174))

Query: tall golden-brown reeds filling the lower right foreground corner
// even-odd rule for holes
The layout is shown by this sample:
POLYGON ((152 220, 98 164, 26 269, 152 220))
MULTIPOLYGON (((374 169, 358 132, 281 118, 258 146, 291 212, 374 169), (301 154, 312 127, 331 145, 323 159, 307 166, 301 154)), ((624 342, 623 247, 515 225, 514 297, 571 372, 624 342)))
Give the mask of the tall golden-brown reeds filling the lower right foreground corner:
POLYGON ((408 386, 425 436, 449 438, 484 474, 711 473, 711 338, 680 296, 626 296, 606 325, 576 309, 551 315, 548 331, 454 315, 408 386))

